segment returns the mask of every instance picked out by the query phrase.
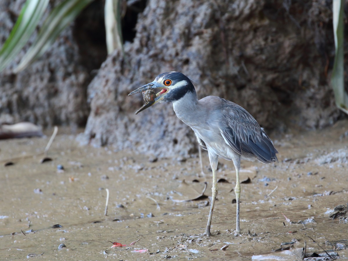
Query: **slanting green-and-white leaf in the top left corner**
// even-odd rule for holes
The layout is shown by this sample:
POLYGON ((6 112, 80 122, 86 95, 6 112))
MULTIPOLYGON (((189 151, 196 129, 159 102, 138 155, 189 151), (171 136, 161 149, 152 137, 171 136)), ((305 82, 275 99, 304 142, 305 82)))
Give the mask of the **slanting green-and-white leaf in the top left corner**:
POLYGON ((0 72, 13 61, 27 43, 44 15, 49 0, 27 0, 18 19, 0 50, 0 72))

